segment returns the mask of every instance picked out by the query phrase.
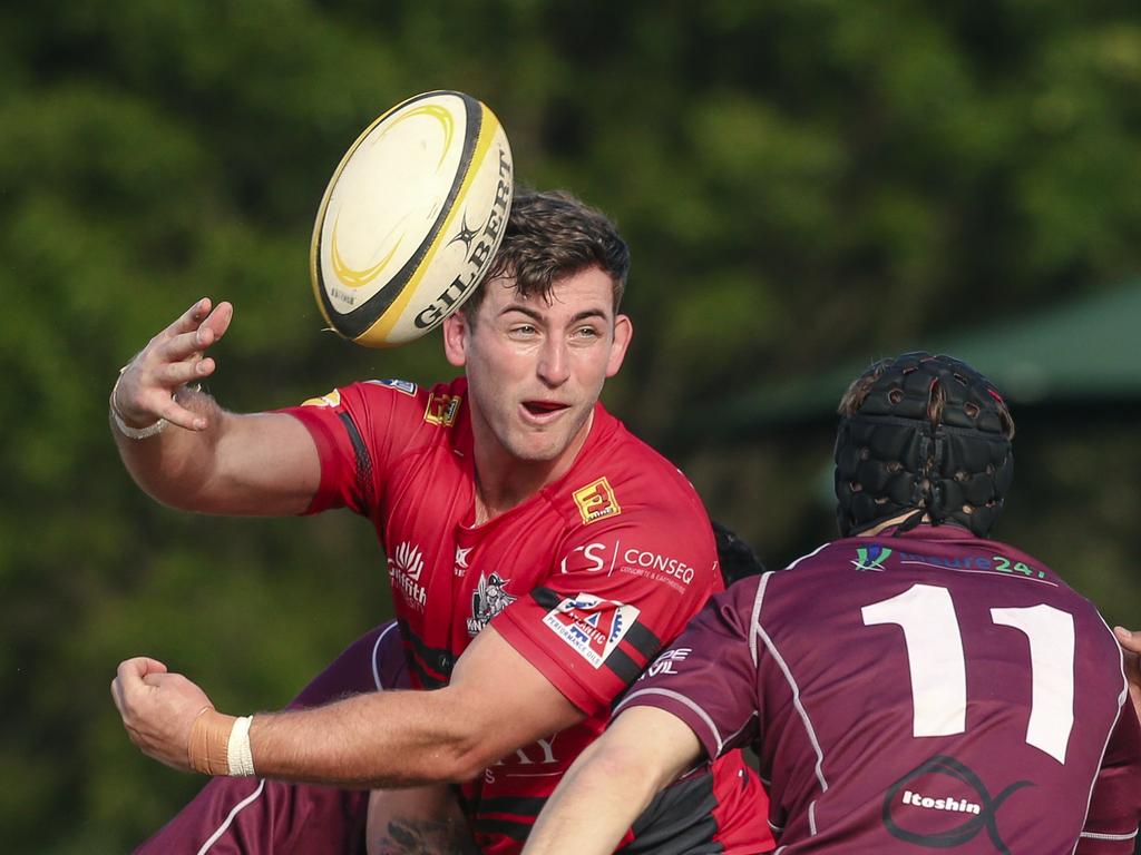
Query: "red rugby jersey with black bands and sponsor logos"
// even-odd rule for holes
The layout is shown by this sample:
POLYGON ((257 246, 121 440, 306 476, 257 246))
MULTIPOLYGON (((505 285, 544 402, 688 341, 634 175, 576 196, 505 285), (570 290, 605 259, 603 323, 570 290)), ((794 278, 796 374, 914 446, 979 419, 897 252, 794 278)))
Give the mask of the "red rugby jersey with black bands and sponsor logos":
MULTIPOLYGON (((464 785, 476 840, 515 853, 567 766, 605 727, 612 701, 721 588, 713 536, 678 470, 601 405, 570 470, 480 526, 475 519, 467 381, 430 390, 357 383, 286 410, 317 443, 310 512, 347 506, 372 520, 411 677, 445 684, 488 624, 588 718, 519 749, 464 785)), ((504 710, 504 716, 510 710, 504 710)), ((771 848, 739 752, 712 775, 663 795, 625 852, 682 852, 658 834, 689 828, 713 848, 771 848), (659 805, 659 806, 661 806, 659 805), (652 828, 650 828, 652 826, 652 828)), ((633 834, 628 836, 628 840, 633 834)))

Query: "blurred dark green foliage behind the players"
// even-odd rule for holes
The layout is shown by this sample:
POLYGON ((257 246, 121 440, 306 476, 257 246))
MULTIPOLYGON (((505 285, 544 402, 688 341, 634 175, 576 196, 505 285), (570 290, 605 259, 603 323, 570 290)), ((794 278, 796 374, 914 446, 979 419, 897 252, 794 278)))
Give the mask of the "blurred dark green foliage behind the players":
MULTIPOLYGON (((235 409, 445 373, 435 339, 321 332, 309 292, 325 182, 388 106, 471 92, 524 180, 618 220, 638 332, 607 401, 664 443, 680 412, 1141 271, 1139 84, 1124 1, 2 7, 6 848, 124 850, 200 785, 129 747, 120 659, 270 708, 388 613, 365 523, 159 507, 105 421, 116 368, 203 294, 236 306, 210 383, 235 409)), ((1136 410, 1028 414, 998 531, 1134 626, 1136 410)), ((779 565, 832 535, 830 433, 669 451, 779 565)))

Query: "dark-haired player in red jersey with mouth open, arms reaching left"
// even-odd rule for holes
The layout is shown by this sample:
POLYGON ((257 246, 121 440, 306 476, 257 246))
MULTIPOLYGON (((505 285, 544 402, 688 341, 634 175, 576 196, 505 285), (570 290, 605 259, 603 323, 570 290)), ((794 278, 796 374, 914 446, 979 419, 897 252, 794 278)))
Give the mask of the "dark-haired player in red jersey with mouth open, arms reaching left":
MULTIPOLYGON (((132 360, 112 413, 140 486, 197 511, 345 506, 369 518, 388 557, 407 678, 438 689, 370 691, 386 684, 366 638, 298 708, 251 722, 217 712, 160 662, 123 662, 113 695, 144 752, 177 768, 268 779, 240 781, 241 804, 224 815, 234 790, 208 787, 201 809, 192 805, 148 850, 299 850, 323 840, 321 850, 355 852, 362 798, 348 790, 440 782, 461 783, 480 850, 519 849, 614 698, 721 587, 693 487, 598 402, 630 341, 617 314, 628 266, 601 214, 564 195, 524 194, 496 268, 444 324, 445 353, 464 378, 430 389, 364 382, 289 410, 224 413, 183 388, 213 370, 204 351, 229 324, 228 304, 208 315, 208 301, 132 360), (341 681, 357 693, 313 706, 337 697, 341 681), (345 789, 311 796, 275 782, 345 789), (268 819, 250 823, 248 805, 269 805, 268 819)), ((438 787, 412 801, 421 795, 440 801, 438 787)), ((767 849, 756 798, 755 776, 739 755, 727 757, 632 821, 626 852, 767 849)), ((412 832, 397 833, 391 817, 419 803, 374 801, 385 812, 378 826, 400 839, 370 842, 411 850, 412 832)))

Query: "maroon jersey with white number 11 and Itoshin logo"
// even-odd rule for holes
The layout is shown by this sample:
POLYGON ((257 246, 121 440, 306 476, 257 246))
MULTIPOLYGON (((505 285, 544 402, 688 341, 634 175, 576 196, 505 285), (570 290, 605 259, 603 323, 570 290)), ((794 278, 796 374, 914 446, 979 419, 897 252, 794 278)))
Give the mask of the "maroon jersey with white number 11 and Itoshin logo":
POLYGON ((1097 609, 954 526, 717 596, 618 705, 755 740, 778 853, 1132 853, 1141 728, 1097 609), (1099 772, 1100 769, 1100 772, 1099 772))

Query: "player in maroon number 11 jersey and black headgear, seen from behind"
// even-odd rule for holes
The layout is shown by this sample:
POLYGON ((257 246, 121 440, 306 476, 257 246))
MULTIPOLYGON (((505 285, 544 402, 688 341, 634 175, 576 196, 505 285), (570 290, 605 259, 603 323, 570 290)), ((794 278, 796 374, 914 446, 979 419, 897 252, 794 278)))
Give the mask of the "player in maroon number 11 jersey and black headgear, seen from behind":
POLYGON ((610 852, 659 787, 745 743, 786 855, 1133 852, 1141 726, 1114 634, 985 539, 1013 465, 1002 398, 907 353, 841 413, 844 539, 717 596, 565 776, 528 855, 610 852))

